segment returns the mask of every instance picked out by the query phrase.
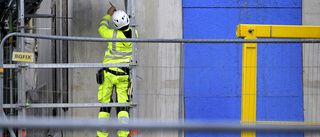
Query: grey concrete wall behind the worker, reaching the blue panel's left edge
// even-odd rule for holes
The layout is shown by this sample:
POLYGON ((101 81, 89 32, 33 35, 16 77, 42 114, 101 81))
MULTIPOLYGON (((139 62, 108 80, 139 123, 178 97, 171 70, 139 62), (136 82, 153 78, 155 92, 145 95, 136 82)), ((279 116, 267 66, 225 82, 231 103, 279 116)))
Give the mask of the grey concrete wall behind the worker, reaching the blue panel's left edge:
MULTIPOLYGON (((124 1, 110 0, 124 10, 124 1)), ((105 0, 73 0, 72 36, 100 37, 98 26, 110 7, 105 0)), ((181 1, 136 1, 139 38, 182 38, 181 1)), ((70 62, 100 63, 106 43, 72 42, 70 62)), ((172 120, 178 118, 180 44, 138 44, 138 118, 172 120)), ((72 69, 72 103, 98 102, 97 69, 72 69)), ((98 117, 98 108, 72 109, 73 117, 98 117)), ((111 117, 115 118, 115 114, 111 117)), ((138 131, 141 137, 170 137, 177 132, 138 131)), ((95 132, 73 133, 77 137, 95 136, 95 132)), ((114 133, 112 135, 115 135, 114 133)), ((111 136, 112 136, 111 135, 111 136)))

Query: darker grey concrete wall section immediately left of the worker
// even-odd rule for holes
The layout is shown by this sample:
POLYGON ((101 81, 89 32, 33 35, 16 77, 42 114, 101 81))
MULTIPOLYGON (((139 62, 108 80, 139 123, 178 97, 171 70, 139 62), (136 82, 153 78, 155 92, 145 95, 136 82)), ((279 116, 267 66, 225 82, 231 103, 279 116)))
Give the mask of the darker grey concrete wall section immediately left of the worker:
MULTIPOLYGON (((108 1, 105 0, 73 0, 69 1, 72 20, 71 36, 100 37, 98 26, 106 14, 108 1)), ((113 2, 116 4, 116 2, 113 2)), ((69 42, 69 62, 102 63, 106 43, 69 42)), ((70 74, 70 91, 72 103, 98 103, 98 84, 95 81, 97 68, 72 69, 70 74)), ((72 117, 98 118, 98 108, 71 109, 72 117)), ((74 137, 96 136, 95 131, 74 131, 74 137)))

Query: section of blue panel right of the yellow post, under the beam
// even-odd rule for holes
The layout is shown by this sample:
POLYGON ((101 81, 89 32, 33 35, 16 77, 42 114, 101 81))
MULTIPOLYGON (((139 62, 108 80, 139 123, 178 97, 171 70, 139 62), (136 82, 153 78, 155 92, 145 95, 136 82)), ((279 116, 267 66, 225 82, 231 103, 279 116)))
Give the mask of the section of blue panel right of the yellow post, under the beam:
MULTIPOLYGON (((259 45, 257 121, 304 121, 301 53, 301 44, 259 45)), ((303 137, 303 133, 257 133, 275 135, 303 137)))

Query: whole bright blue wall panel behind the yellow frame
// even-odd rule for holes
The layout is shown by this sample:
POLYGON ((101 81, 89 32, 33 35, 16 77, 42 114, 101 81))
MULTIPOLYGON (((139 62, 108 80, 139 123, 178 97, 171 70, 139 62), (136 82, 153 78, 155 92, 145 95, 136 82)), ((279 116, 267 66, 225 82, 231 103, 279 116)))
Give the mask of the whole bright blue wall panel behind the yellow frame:
MULTIPOLYGON (((184 0, 183 5, 186 39, 235 39, 238 24, 301 24, 300 0, 184 0), (245 2, 251 8, 244 8, 245 2)), ((186 120, 240 121, 241 65, 242 44, 185 44, 186 120)), ((258 44, 257 71, 257 120, 303 121, 301 44, 258 44)), ((186 136, 240 136, 240 132, 186 136)))

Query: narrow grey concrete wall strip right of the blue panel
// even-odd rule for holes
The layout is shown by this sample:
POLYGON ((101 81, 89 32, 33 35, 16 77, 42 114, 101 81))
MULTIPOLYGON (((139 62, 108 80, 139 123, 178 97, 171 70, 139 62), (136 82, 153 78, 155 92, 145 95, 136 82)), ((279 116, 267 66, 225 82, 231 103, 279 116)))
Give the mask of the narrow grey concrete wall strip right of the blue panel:
MULTIPOLYGON (((320 1, 302 0, 302 25, 320 25, 320 1)), ((303 105, 306 122, 320 122, 320 44, 303 44, 303 105)), ((305 133, 320 137, 320 133, 305 133)))

